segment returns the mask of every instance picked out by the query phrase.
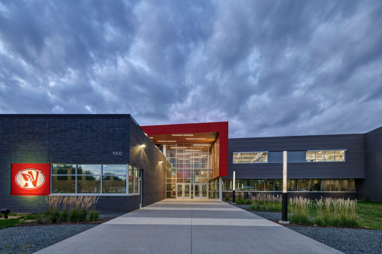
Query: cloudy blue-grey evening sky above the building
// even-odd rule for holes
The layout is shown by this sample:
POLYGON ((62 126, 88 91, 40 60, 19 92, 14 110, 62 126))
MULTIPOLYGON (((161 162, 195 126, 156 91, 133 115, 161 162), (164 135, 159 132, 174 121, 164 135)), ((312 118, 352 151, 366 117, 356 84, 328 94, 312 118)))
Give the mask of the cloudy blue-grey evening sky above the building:
POLYGON ((382 126, 382 1, 0 0, 9 113, 367 132, 382 126))

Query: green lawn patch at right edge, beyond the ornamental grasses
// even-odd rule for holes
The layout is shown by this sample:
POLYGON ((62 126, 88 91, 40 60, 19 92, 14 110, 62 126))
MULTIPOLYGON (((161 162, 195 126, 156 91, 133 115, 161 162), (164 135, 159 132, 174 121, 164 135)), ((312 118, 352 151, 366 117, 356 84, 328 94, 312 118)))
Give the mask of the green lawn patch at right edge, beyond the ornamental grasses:
POLYGON ((382 230, 382 202, 359 201, 357 217, 361 227, 382 230))

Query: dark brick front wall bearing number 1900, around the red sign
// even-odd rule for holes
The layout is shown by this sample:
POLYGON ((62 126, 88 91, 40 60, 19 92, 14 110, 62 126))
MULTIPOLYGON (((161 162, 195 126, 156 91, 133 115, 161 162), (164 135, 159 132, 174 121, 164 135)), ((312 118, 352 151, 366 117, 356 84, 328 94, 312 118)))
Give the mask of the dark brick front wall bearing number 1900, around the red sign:
MULTIPOLYGON (((136 129, 135 136, 139 136, 136 129)), ((128 164, 130 115, 0 115, 0 140, 0 208, 43 211, 45 196, 10 195, 11 163, 128 164), (113 156, 113 151, 123 155, 113 156)), ((96 208, 101 212, 135 210, 139 195, 101 196, 96 208)))

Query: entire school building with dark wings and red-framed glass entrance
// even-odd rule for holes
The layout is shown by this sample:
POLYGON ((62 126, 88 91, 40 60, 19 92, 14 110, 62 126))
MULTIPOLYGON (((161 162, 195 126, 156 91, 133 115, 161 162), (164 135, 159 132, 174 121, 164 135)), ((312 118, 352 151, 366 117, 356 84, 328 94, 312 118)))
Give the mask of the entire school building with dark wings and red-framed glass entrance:
POLYGON ((165 198, 289 196, 382 201, 382 127, 361 134, 228 138, 228 122, 140 127, 130 115, 0 115, 0 208, 96 195, 101 212, 165 198))

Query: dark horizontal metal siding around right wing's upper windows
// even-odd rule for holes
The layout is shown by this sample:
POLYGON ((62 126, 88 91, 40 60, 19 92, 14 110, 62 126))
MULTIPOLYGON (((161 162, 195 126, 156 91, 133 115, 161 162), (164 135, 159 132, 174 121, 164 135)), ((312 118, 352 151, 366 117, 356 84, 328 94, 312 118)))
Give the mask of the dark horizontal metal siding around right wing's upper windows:
POLYGON ((288 178, 364 178, 365 134, 228 139, 228 178, 281 179, 288 151, 288 178), (347 149, 346 162, 304 162, 306 150, 347 149), (233 164, 233 152, 269 151, 268 163, 233 164))

